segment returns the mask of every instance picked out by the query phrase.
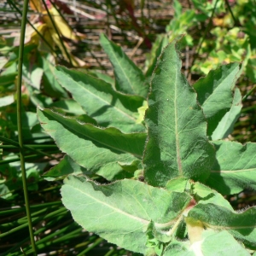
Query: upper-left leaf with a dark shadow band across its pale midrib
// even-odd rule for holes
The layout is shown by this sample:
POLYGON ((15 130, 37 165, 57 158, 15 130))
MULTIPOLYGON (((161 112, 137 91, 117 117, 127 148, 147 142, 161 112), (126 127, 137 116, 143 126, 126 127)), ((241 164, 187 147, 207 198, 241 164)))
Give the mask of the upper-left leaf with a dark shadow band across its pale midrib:
POLYGON ((126 96, 101 79, 66 67, 56 67, 55 76, 99 125, 114 126, 124 132, 145 130, 135 117, 137 108, 143 106, 143 97, 126 96))

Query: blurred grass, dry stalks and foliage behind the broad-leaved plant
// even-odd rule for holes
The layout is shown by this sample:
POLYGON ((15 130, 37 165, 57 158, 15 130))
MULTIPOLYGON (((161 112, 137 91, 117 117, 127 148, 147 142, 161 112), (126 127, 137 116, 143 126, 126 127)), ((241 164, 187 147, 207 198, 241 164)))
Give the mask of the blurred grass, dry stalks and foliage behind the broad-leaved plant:
MULTIPOLYGON (((20 17, 23 3, 0 1, 0 255, 30 255, 22 192, 16 120, 20 17)), ((256 141, 255 0, 31 0, 23 63, 22 124, 32 223, 40 255, 131 255, 73 222, 62 206, 61 180, 49 171, 63 158, 41 130, 36 107, 79 116, 84 112, 55 79, 61 64, 113 81, 113 68, 99 44, 104 32, 146 72, 173 38, 190 84, 211 69, 242 62, 237 86, 243 96, 241 117, 229 137, 256 141), (107 76, 108 75, 108 76, 107 76)), ((148 72, 153 72, 149 70, 148 72)), ((254 157, 254 156, 252 156, 254 157)), ((235 209, 252 206, 256 195, 230 196, 235 209)))

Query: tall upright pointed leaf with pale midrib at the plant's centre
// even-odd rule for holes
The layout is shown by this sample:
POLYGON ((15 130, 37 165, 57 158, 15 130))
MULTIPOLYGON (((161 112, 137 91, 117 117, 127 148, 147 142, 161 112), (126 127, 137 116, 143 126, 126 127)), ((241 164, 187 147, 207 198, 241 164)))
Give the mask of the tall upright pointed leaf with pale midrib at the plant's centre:
POLYGON ((207 122, 196 102, 195 90, 180 69, 174 42, 160 55, 145 114, 145 177, 156 186, 165 186, 174 177, 203 180, 210 174, 215 157, 214 148, 207 141, 207 122))

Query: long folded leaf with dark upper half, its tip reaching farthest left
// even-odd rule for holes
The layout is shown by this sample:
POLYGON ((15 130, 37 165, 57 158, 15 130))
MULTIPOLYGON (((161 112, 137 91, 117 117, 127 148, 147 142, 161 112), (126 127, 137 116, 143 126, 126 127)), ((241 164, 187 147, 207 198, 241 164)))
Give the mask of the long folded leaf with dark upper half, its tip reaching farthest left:
POLYGON ((97 172, 109 180, 123 171, 121 165, 142 158, 145 133, 124 134, 115 128, 102 129, 49 109, 38 109, 38 119, 61 151, 89 172, 97 172))

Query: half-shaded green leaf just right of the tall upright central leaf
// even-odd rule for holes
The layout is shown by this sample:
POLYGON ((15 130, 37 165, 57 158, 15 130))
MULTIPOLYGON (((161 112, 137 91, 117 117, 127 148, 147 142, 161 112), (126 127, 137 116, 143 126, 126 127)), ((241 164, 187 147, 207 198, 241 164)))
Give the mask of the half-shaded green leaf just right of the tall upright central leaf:
POLYGON ((207 118, 207 135, 209 136, 212 135, 224 114, 230 110, 233 99, 232 90, 239 78, 240 67, 240 63, 218 67, 194 84, 197 100, 207 118))

